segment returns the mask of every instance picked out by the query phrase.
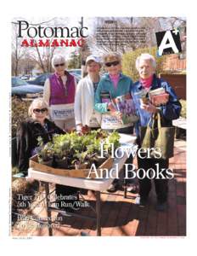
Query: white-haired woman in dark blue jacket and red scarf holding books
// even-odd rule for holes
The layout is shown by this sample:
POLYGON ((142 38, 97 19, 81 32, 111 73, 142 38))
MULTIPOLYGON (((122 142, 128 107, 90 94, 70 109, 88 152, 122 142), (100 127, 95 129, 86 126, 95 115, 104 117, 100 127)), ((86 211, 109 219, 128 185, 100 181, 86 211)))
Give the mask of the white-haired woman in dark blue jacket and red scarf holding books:
MULTIPOLYGON (((181 112, 181 104, 177 100, 177 96, 172 89, 172 86, 163 79, 158 79, 155 75, 156 62, 155 58, 149 54, 142 54, 138 56, 136 60, 136 68, 139 73, 139 80, 132 85, 132 97, 137 108, 139 117, 138 124, 136 124, 136 134, 138 136, 138 146, 141 147, 141 136, 140 127, 146 127, 149 125, 149 121, 152 120, 154 113, 160 113, 162 118, 162 126, 172 126, 172 120, 177 119, 181 112), (166 102, 162 102, 160 106, 155 106, 153 102, 142 100, 142 94, 144 92, 150 94, 152 90, 165 90, 168 94, 166 102), (141 95, 141 96, 140 96, 141 95)), ((148 170, 152 168, 156 170, 156 166, 159 166, 159 170, 166 170, 169 166, 169 159, 164 158, 149 158, 149 157, 138 157, 138 169, 144 170, 147 174, 148 170)), ((166 171, 162 172, 166 177, 166 171)), ((167 178, 154 178, 155 191, 157 195, 156 209, 158 211, 165 211, 167 207, 167 193, 168 183, 167 178)), ((148 202, 149 192, 151 190, 151 179, 148 175, 139 182, 139 195, 136 198, 136 204, 144 206, 148 202)))

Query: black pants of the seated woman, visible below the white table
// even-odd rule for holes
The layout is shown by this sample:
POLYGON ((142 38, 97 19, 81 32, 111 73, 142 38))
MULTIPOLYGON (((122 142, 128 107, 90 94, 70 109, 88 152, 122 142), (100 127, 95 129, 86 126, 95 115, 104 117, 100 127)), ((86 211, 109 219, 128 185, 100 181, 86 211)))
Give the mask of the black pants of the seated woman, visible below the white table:
POLYGON ((78 190, 79 189, 74 187, 56 184, 56 206, 65 209, 72 209, 73 207, 75 207, 75 201, 79 201, 79 196, 77 194, 78 190), (60 197, 62 197, 62 199, 60 197))

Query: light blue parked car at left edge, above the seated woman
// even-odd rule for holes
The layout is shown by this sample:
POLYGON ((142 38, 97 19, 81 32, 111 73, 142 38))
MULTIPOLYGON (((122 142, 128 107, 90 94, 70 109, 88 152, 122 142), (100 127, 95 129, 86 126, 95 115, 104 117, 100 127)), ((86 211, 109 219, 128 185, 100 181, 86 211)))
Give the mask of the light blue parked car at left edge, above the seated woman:
POLYGON ((43 87, 35 84, 27 84, 18 77, 12 77, 12 96, 22 98, 36 98, 42 96, 43 87))

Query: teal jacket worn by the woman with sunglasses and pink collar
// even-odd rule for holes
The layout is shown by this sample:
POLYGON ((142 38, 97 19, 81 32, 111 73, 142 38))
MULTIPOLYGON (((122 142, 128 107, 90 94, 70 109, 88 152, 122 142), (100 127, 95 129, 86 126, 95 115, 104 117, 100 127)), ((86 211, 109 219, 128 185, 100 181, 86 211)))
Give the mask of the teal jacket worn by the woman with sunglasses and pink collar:
POLYGON ((114 85, 110 79, 110 75, 108 73, 104 74, 104 76, 100 79, 98 83, 98 87, 94 96, 94 109, 97 110, 99 113, 108 112, 107 103, 101 102, 101 92, 110 92, 111 97, 115 98, 117 96, 124 96, 128 93, 131 93, 131 86, 132 79, 121 73, 119 82, 117 84, 117 89, 115 90, 114 85))

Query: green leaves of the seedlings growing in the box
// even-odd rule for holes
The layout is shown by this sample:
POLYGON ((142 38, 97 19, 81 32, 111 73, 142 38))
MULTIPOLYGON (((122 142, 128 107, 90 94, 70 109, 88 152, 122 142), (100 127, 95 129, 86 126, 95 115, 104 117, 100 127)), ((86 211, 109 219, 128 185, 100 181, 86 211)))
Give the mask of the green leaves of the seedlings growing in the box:
POLYGON ((79 135, 76 131, 66 133, 65 135, 53 136, 53 143, 42 143, 42 138, 38 138, 39 151, 38 156, 41 160, 49 160, 55 156, 55 159, 72 159, 83 163, 85 160, 91 160, 100 155, 100 143, 104 143, 104 149, 111 153, 111 143, 114 148, 120 146, 120 136, 117 131, 109 134, 107 131, 90 131, 87 134, 79 135))

